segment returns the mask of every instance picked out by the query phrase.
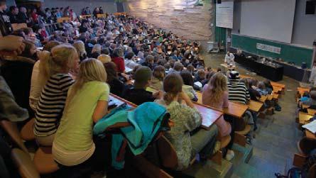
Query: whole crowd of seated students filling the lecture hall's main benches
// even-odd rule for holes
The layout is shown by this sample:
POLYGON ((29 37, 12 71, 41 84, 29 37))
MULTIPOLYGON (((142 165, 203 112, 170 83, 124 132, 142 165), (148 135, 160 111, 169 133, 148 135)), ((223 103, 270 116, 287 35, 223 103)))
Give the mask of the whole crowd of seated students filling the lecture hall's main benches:
MULTIPOLYGON (((63 12, 59 17, 70 10, 45 14, 47 18, 63 12)), ((83 13, 89 14, 89 9, 83 13)), ((202 116, 193 104, 197 92, 202 91, 203 104, 217 109, 229 107, 228 101, 248 104, 272 92, 268 81, 240 80, 236 71, 223 74, 205 68, 199 43, 132 16, 75 18, 60 26, 50 35, 45 27, 37 33, 28 27, 1 38, 0 49, 15 52, 3 55, 0 69, 16 104, 35 117, 37 143, 52 146, 55 161, 65 167, 97 159, 92 128, 107 115, 110 93, 136 105, 165 106, 174 123, 165 135, 182 170, 198 153, 206 160, 217 151, 217 135, 231 135, 225 157, 234 157, 235 119, 223 116, 209 130, 202 129, 202 116), (43 50, 36 50, 42 45, 43 50)), ((248 123, 256 125, 256 113, 249 116, 248 123)))

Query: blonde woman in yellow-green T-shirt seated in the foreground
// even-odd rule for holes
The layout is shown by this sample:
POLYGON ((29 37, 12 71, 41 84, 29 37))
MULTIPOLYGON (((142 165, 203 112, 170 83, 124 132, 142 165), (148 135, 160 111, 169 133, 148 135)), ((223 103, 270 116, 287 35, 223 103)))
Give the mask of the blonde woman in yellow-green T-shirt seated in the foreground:
POLYGON ((109 86, 106 82, 107 72, 102 62, 95 59, 81 62, 53 143, 53 157, 61 165, 72 167, 94 159, 92 128, 93 123, 107 114, 109 86))

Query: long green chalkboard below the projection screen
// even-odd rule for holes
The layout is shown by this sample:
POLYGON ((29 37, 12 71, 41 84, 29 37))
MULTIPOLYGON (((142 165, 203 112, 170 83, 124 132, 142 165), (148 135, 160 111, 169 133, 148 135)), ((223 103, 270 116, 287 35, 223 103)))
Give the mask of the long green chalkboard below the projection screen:
POLYGON ((295 45, 273 42, 271 40, 263 40, 258 38, 251 38, 244 35, 231 35, 231 46, 234 48, 240 48, 246 52, 250 52, 256 55, 263 55, 266 57, 278 58, 280 57, 286 62, 294 62, 295 65, 300 66, 302 62, 306 62, 307 67, 310 67, 312 63, 312 48, 303 48, 295 45), (281 48, 280 54, 273 52, 258 50, 256 44, 261 43, 265 45, 272 45, 281 48))

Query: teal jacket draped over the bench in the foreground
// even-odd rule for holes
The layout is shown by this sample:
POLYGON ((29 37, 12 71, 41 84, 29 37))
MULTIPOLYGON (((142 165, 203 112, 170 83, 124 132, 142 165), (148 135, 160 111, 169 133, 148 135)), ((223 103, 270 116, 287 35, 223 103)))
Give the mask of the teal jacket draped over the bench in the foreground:
POLYGON ((129 106, 119 106, 111 113, 100 119, 93 128, 94 135, 104 136, 104 131, 120 122, 129 122, 131 126, 120 128, 120 133, 112 134, 111 158, 112 166, 116 169, 124 168, 124 160, 116 159, 124 139, 127 140, 129 148, 134 155, 141 154, 146 150, 151 140, 160 130, 161 122, 167 110, 165 107, 153 102, 141 104, 133 111, 129 106))

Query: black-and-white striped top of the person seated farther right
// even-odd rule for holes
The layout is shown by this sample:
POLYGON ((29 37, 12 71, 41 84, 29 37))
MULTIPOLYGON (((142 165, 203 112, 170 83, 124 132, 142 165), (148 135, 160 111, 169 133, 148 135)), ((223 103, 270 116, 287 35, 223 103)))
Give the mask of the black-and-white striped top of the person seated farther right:
POLYGON ((241 104, 246 104, 250 100, 249 91, 243 82, 230 79, 230 81, 227 82, 227 87, 229 90, 229 101, 236 101, 241 104))

